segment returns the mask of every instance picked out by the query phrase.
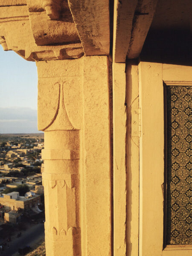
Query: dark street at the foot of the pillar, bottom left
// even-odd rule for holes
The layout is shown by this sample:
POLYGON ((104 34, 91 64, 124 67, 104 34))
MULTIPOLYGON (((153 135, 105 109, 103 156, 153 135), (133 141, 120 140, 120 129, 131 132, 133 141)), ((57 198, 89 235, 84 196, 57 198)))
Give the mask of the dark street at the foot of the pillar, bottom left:
POLYGON ((27 230, 22 231, 21 236, 17 238, 16 236, 12 237, 11 242, 7 242, 9 244, 9 248, 7 245, 4 247, 4 251, 0 253, 0 256, 15 256, 17 255, 18 248, 23 248, 29 245, 34 248, 34 245, 38 243, 38 241, 44 239, 44 224, 36 224, 32 227, 29 227, 27 230))

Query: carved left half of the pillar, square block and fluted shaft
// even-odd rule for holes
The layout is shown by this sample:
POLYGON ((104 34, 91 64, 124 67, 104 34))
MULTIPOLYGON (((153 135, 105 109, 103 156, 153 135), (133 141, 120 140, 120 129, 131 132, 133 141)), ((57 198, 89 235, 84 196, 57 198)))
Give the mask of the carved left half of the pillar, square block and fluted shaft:
MULTIPOLYGON (((79 62, 73 63, 76 70, 79 62)), ((81 256, 81 83, 79 76, 73 76, 73 73, 66 77, 60 72, 60 77, 49 77, 53 76, 49 70, 55 68, 55 64, 51 61, 38 65, 38 126, 45 133, 45 149, 42 150, 45 171, 42 177, 46 255, 81 256), (44 65, 48 73, 41 77, 44 65)), ((63 64, 65 70, 70 69, 70 61, 63 64)))

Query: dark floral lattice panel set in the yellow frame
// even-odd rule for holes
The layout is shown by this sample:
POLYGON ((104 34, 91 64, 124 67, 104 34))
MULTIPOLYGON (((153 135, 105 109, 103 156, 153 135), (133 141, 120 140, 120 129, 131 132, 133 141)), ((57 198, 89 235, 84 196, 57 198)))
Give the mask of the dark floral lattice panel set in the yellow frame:
POLYGON ((192 87, 167 86, 166 243, 192 244, 192 87))

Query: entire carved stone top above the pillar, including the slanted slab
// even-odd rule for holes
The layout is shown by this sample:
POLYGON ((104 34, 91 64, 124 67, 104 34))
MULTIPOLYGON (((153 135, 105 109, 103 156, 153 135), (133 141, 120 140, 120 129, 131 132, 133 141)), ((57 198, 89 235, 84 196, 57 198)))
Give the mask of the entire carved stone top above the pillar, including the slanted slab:
POLYGON ((108 55, 109 0, 0 0, 0 36, 28 61, 108 55))

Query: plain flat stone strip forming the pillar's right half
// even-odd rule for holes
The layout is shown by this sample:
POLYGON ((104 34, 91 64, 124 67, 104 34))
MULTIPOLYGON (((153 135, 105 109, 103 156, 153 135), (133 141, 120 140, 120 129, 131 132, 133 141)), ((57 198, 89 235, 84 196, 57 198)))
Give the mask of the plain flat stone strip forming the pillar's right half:
POLYGON ((111 255, 110 93, 108 57, 84 58, 82 255, 111 255))

